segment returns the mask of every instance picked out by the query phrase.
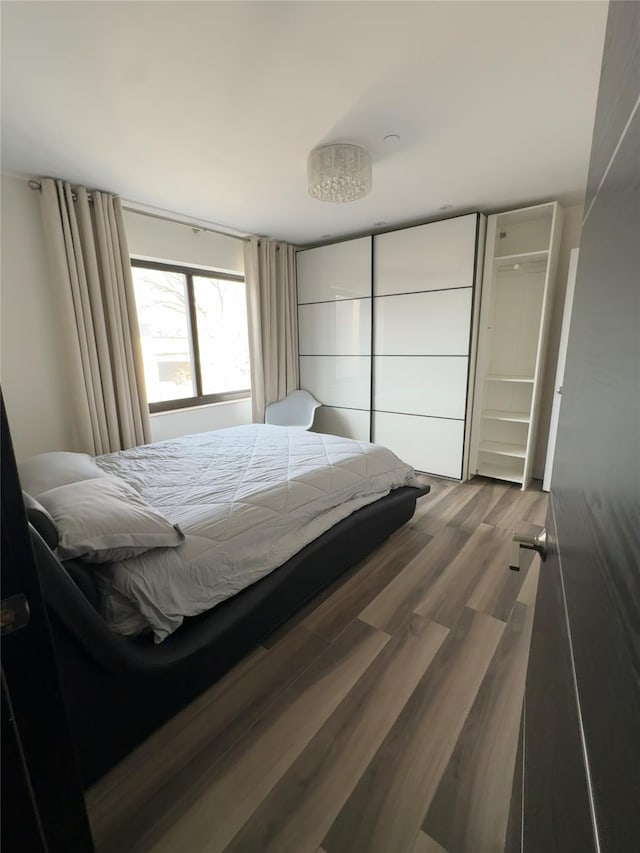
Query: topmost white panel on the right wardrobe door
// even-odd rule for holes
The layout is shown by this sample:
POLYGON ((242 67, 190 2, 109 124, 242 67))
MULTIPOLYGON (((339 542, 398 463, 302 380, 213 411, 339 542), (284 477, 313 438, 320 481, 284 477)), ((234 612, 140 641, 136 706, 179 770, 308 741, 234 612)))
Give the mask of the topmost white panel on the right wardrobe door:
POLYGON ((477 221, 472 213, 377 235, 374 296, 471 287, 477 221))

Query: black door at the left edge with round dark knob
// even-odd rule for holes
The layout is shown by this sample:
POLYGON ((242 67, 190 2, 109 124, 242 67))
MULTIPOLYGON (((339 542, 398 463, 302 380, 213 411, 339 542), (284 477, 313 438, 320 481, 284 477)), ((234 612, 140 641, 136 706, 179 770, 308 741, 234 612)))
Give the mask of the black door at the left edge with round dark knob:
POLYGON ((2 850, 93 850, 2 401, 2 850), (26 605, 25 605, 26 603, 26 605))

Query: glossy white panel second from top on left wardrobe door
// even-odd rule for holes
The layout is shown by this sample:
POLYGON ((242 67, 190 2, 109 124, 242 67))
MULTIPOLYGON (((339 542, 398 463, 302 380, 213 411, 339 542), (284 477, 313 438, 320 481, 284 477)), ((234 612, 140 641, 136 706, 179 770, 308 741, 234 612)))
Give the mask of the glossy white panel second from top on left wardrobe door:
POLYGON ((298 306, 300 355, 369 355, 371 299, 298 306))

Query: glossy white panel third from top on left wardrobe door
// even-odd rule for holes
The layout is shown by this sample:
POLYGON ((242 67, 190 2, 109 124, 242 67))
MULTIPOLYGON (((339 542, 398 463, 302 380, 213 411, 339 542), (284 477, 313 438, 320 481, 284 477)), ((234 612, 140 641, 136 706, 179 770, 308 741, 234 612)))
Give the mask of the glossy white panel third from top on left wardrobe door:
POLYGON ((325 406, 369 409, 371 358, 309 355, 300 358, 300 387, 325 406))

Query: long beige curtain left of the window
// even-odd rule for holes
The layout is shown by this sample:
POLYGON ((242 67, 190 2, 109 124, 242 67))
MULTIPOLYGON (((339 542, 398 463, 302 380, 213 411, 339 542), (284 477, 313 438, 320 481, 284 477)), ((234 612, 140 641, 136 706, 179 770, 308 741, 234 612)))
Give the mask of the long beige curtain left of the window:
POLYGON ((79 450, 93 455, 151 440, 142 350, 120 200, 51 178, 41 209, 68 344, 79 450))

